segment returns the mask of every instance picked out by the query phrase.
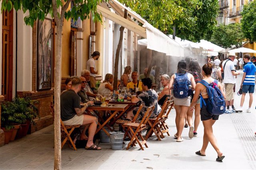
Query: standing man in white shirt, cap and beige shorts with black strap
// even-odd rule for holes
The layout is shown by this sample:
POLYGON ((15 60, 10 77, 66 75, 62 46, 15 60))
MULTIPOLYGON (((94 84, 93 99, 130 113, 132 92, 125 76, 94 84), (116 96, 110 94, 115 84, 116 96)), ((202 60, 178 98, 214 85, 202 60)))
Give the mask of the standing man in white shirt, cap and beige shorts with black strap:
POLYGON ((239 75, 239 72, 236 72, 234 66, 234 59, 236 57, 235 53, 229 53, 228 59, 222 63, 222 68, 224 70, 224 84, 226 89, 226 107, 229 105, 229 109, 226 108, 225 113, 235 113, 232 108, 232 100, 234 99, 233 88, 236 83, 236 76, 239 75))

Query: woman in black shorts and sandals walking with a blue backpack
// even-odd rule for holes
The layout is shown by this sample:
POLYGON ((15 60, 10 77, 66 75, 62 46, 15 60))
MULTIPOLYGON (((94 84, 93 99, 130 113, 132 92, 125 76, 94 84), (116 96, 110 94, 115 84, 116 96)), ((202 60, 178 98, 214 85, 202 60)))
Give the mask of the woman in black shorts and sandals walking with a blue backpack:
POLYGON ((218 120, 219 115, 225 112, 225 94, 222 90, 220 82, 211 77, 212 64, 204 64, 202 68, 203 80, 196 84, 194 98, 192 100, 190 110, 193 111, 194 106, 201 96, 201 120, 204 125, 204 138, 201 150, 196 152, 197 155, 206 156, 205 151, 210 142, 212 147, 216 150, 218 157, 216 161, 224 159, 223 153, 220 151, 216 138, 213 135, 212 125, 218 120))

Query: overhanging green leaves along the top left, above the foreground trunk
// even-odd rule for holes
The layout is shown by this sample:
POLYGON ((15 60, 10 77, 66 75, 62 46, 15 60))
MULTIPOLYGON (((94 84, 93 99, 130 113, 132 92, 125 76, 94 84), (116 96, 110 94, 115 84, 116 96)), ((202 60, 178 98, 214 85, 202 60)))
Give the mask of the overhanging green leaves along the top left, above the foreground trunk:
MULTIPOLYGON (((102 2, 102 0, 64 0, 64 4, 62 4, 62 0, 56 0, 56 9, 59 7, 63 7, 67 9, 70 2, 74 4, 71 10, 67 10, 65 12, 58 12, 58 17, 61 18, 63 15, 66 20, 69 18, 74 18, 77 20, 78 17, 81 20, 89 18, 90 12, 92 12, 92 17, 94 21, 102 21, 100 14, 96 12, 98 2, 102 2)), ((26 25, 30 25, 33 27, 34 21, 37 19, 44 20, 44 18, 50 14, 52 18, 53 16, 53 8, 52 0, 2 0, 2 8, 1 10, 12 10, 16 11, 22 10, 23 13, 29 12, 28 16, 24 18, 26 25)))

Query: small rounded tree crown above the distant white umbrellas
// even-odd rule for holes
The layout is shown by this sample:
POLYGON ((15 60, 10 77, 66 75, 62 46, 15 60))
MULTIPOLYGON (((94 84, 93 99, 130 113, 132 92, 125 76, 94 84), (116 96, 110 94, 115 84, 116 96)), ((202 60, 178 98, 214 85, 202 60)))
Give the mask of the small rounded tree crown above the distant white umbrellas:
POLYGON ((212 35, 211 42, 224 48, 229 48, 231 45, 236 45, 236 47, 242 45, 244 39, 241 24, 234 23, 217 27, 212 35))

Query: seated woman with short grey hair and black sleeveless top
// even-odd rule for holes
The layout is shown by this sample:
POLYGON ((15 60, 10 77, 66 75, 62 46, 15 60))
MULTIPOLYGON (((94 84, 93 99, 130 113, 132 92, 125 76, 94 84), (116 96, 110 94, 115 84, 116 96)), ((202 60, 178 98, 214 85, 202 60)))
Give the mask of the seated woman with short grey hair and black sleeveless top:
POLYGON ((170 97, 172 94, 172 90, 168 89, 168 84, 170 82, 170 77, 167 74, 164 74, 161 77, 161 83, 164 86, 164 89, 162 92, 158 95, 158 104, 160 106, 164 105, 164 101, 166 100, 167 97, 170 97))

